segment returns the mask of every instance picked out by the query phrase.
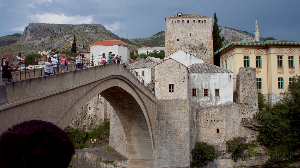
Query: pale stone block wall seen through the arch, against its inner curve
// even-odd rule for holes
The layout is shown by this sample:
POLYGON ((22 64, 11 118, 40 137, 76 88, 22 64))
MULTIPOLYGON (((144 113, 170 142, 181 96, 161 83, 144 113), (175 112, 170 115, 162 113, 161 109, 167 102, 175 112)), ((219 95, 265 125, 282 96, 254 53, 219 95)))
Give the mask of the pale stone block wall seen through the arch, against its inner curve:
POLYGON ((110 113, 110 146, 128 158, 125 132, 116 111, 110 113))

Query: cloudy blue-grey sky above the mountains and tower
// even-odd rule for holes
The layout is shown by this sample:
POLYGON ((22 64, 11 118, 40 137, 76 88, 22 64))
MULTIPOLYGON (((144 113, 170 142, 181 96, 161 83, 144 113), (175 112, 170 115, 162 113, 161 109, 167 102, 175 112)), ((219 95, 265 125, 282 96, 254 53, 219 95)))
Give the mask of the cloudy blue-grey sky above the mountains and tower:
POLYGON ((0 0, 0 37, 30 23, 104 25, 119 37, 145 38, 164 31, 176 13, 217 14, 218 25, 261 37, 300 41, 299 0, 0 0))

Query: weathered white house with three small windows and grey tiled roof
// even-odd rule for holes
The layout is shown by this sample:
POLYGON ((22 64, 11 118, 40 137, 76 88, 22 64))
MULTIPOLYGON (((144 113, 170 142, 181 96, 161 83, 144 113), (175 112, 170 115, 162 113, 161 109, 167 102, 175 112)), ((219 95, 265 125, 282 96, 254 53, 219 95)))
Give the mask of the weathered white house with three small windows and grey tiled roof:
POLYGON ((209 63, 187 67, 189 100, 196 107, 233 103, 232 72, 209 63))

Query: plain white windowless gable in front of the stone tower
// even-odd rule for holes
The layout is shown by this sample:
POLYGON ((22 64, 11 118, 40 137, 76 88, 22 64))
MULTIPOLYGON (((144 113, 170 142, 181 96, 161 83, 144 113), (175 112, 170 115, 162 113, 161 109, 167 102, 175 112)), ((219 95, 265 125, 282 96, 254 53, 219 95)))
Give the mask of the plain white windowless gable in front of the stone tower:
POLYGON ((183 50, 177 50, 176 52, 170 54, 169 56, 165 57, 164 60, 167 60, 169 58, 172 58, 173 60, 176 60, 179 63, 182 63, 184 66, 190 66, 194 63, 203 63, 203 60, 187 53, 183 50))

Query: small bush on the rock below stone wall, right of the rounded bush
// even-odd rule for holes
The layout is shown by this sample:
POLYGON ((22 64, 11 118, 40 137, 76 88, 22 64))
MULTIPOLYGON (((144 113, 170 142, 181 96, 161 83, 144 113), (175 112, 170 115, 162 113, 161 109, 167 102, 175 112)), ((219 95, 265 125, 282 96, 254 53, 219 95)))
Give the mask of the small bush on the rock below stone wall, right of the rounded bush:
POLYGON ((226 141, 227 152, 232 152, 231 158, 233 161, 238 161, 238 158, 242 158, 244 155, 245 149, 248 147, 247 144, 244 143, 244 138, 234 138, 233 140, 226 141))

